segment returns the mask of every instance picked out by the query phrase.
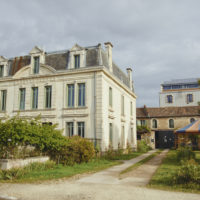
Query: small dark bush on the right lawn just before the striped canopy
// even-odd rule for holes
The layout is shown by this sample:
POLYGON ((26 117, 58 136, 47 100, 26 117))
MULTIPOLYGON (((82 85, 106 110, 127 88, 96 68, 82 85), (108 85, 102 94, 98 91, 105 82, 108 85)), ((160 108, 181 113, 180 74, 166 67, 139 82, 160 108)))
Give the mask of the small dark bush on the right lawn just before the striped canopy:
POLYGON ((177 161, 181 160, 187 161, 190 159, 195 159, 195 153, 191 150, 190 147, 180 147, 176 153, 177 161))

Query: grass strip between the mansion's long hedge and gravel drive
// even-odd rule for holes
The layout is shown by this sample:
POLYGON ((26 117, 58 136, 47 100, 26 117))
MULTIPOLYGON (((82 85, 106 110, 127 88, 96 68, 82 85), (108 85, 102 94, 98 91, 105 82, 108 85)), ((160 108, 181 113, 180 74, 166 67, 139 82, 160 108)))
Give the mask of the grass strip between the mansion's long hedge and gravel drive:
POLYGON ((55 165, 53 169, 35 169, 26 173, 24 176, 21 176, 18 179, 1 180, 1 182, 30 183, 52 179, 68 178, 77 174, 97 172, 118 164, 121 164, 121 162, 105 159, 94 159, 88 163, 75 164, 74 166, 55 165))

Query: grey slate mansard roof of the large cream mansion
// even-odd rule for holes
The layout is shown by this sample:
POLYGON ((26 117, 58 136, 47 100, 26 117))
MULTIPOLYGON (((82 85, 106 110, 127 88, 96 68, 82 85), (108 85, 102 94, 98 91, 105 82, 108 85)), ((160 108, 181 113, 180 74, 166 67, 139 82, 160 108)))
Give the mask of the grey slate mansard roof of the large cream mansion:
MULTIPOLYGON (((108 68, 107 53, 99 45, 85 47, 86 67, 105 66, 108 68), (101 56, 100 56, 101 55, 101 56)), ((55 70, 67 70, 69 63, 70 50, 46 52, 45 64, 53 67, 55 70)), ((30 55, 9 59, 9 76, 13 76, 21 68, 29 65, 30 55)), ((113 74, 130 88, 128 76, 113 62, 113 74)))

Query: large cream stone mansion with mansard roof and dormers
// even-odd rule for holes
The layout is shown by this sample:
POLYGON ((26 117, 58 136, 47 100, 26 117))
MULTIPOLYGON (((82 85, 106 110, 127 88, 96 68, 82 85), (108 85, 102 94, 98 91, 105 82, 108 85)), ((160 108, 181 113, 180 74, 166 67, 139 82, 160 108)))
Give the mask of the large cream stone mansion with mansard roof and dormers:
POLYGON ((113 62, 112 47, 35 47, 26 56, 0 56, 0 119, 40 114, 43 123, 58 123, 64 135, 88 138, 103 151, 127 141, 136 148, 132 70, 126 75, 113 62))

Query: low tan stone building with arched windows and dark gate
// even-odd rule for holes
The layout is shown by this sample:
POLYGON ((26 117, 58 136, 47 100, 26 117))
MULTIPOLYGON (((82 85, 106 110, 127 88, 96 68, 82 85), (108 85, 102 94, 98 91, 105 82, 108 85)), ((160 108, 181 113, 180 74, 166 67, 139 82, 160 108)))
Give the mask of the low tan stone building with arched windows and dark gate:
MULTIPOLYGON (((200 106, 137 108, 137 125, 151 129, 146 139, 154 148, 174 146, 174 130, 200 119, 200 106)), ((141 135, 138 135, 140 139, 141 135)))

